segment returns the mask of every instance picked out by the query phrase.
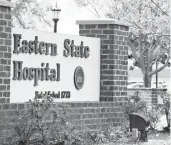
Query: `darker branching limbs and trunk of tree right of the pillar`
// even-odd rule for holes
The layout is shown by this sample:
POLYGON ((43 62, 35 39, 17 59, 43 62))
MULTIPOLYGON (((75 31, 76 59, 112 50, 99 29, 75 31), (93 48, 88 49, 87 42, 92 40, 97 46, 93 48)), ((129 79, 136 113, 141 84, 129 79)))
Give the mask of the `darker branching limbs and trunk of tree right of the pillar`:
POLYGON ((139 35, 130 36, 128 44, 134 58, 133 65, 141 69, 145 87, 151 87, 152 76, 169 66, 169 43, 170 38, 163 35, 150 37, 148 34, 139 33, 139 35), (153 65, 158 62, 163 65, 153 69, 153 65))

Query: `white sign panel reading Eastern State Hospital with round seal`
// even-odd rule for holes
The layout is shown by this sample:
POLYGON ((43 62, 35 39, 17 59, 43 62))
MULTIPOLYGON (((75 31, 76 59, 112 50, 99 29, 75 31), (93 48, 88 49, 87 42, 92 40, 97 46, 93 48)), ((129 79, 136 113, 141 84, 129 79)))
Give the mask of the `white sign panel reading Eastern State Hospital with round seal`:
POLYGON ((100 39, 13 29, 11 102, 99 101, 100 39))

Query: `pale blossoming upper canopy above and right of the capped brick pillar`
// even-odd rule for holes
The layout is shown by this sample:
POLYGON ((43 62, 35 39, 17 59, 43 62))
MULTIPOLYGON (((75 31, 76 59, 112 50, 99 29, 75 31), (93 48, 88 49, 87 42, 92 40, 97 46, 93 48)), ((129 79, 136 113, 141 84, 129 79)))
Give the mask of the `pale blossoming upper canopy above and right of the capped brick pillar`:
POLYGON ((169 33, 169 0, 75 0, 95 16, 124 20, 132 32, 169 33))

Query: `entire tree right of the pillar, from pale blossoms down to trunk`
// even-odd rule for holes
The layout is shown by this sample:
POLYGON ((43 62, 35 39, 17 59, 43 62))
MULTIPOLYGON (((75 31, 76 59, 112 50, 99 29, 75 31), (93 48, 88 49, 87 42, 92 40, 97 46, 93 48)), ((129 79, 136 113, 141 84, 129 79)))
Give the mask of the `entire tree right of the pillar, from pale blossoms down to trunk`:
POLYGON ((75 1, 99 17, 103 12, 108 18, 124 20, 130 24, 128 44, 131 53, 128 58, 134 59, 130 69, 141 69, 145 87, 151 87, 152 75, 170 66, 169 0, 75 1), (163 66, 155 70, 153 65, 158 62, 163 66))

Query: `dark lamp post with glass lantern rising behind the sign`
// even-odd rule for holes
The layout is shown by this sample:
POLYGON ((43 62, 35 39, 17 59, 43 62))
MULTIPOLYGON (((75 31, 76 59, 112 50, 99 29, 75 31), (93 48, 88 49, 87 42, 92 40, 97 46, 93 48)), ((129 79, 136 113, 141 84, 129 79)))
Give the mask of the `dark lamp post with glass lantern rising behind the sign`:
POLYGON ((56 7, 51 9, 53 21, 54 21, 54 33, 57 33, 57 23, 59 21, 59 14, 61 12, 61 9, 58 8, 57 4, 56 7))

